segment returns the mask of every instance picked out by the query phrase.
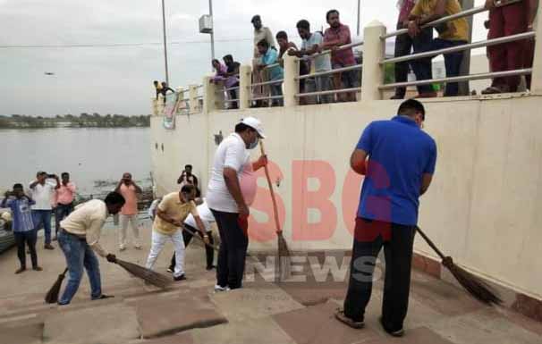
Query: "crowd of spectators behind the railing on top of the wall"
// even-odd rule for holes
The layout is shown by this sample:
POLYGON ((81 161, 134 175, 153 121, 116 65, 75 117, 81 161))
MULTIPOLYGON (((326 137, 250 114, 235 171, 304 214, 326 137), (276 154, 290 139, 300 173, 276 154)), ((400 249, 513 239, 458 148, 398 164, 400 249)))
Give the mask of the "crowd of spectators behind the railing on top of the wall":
MULTIPOLYGON (((501 38, 533 30, 536 24, 538 0, 486 0, 489 20, 486 21, 488 39, 501 38)), ((407 29, 395 37, 394 57, 425 53, 443 48, 462 46, 470 42, 470 26, 465 17, 453 21, 445 21, 436 26, 428 23, 446 16, 462 13, 459 0, 398 0, 399 16, 396 29, 407 29), (434 37, 436 31, 436 37, 434 37)), ((296 56, 300 59, 300 75, 320 73, 316 76, 300 80, 300 94, 320 93, 318 95, 300 96, 301 105, 326 104, 334 102, 351 102, 357 100, 360 90, 360 69, 326 73, 344 67, 359 64, 351 47, 351 31, 340 20, 337 10, 326 13, 329 25, 324 32, 313 31, 309 21, 300 20, 296 24, 301 38, 301 46, 293 43, 284 30, 276 36, 264 26, 259 15, 254 15, 251 23, 254 27, 252 57, 252 103, 253 107, 283 105, 284 55, 296 56), (275 44, 276 39, 276 44, 275 44), (321 74, 325 73, 325 74, 321 74), (273 82, 275 81, 275 82, 273 82), (265 85, 261 85, 265 83, 265 85), (351 92, 321 92, 348 88, 351 92)), ((444 55, 446 77, 457 77, 462 74, 464 55, 469 50, 444 55)), ((395 82, 408 80, 409 71, 413 71, 416 80, 431 80, 432 60, 437 55, 395 63, 395 82)), ((495 46, 487 46, 490 71, 512 71, 530 68, 534 57, 534 38, 523 39, 495 46)), ((223 62, 213 60, 216 71, 211 82, 224 84, 228 97, 228 108, 239 107, 239 68, 240 63, 232 55, 225 55, 223 62)), ((526 86, 530 88, 530 76, 526 76, 526 86)), ((489 88, 482 94, 516 92, 520 85, 520 76, 495 78, 489 88)), ((155 81, 157 96, 171 90, 167 85, 155 81)), ((438 96, 434 85, 418 85, 417 97, 438 96)), ((392 99, 402 99, 406 88, 395 88, 392 99)), ((459 96, 457 82, 445 84, 444 96, 459 96)))

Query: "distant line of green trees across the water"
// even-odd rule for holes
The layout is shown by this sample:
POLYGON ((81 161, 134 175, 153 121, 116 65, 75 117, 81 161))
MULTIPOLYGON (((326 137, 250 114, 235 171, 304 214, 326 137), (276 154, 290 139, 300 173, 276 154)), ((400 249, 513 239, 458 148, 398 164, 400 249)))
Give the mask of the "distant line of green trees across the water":
POLYGON ((57 114, 55 117, 12 114, 0 115, 0 129, 40 129, 40 128, 131 128, 149 127, 150 115, 125 116, 123 114, 101 115, 99 113, 80 113, 80 115, 57 114))

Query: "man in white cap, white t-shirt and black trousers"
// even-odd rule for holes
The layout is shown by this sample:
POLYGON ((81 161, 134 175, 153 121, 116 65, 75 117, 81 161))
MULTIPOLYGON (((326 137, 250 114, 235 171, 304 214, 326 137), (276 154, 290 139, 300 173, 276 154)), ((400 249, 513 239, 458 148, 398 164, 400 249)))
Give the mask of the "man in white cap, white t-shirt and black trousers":
MULTIPOLYGON (((207 205, 216 219, 220 249, 216 266, 216 291, 242 287, 242 275, 249 246, 247 218, 250 211, 244 199, 240 177, 250 159, 248 149, 258 147, 265 138, 261 122, 247 117, 235 125, 235 132, 216 148, 211 178, 207 187, 207 205)), ((265 156, 260 157, 267 164, 265 156)))

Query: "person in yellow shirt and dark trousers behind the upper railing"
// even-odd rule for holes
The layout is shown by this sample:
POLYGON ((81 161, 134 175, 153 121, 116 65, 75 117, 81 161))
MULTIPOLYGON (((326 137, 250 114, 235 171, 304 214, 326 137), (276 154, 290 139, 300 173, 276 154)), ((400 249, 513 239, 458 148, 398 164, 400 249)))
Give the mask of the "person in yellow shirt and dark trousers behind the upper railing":
MULTIPOLYGON (((419 0, 409 16, 409 35, 412 38, 419 36, 421 27, 428 22, 439 18, 462 12, 458 0, 419 0)), ((414 54, 452 46, 461 46, 469 41, 469 24, 465 18, 446 21, 435 27, 439 33, 438 38, 414 40, 414 54)), ((431 59, 428 57, 411 61, 411 67, 416 74, 416 80, 432 79, 431 59)), ((445 54, 446 77, 459 76, 463 52, 445 54)), ((457 96, 459 92, 457 82, 446 84, 445 96, 457 96)), ((436 92, 431 84, 418 86, 419 97, 433 97, 436 92)))

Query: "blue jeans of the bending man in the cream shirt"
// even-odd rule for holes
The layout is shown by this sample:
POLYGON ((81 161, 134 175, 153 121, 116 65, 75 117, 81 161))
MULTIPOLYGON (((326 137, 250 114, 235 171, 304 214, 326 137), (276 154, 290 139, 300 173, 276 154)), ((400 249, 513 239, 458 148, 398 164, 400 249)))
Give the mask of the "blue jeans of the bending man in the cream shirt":
POLYGON ((92 299, 99 298, 102 295, 99 264, 96 254, 89 247, 87 241, 63 230, 58 234, 58 244, 66 257, 69 273, 66 289, 64 289, 64 294, 58 300, 58 304, 67 305, 72 301, 79 288, 83 267, 87 270, 89 276, 90 297, 92 299))

